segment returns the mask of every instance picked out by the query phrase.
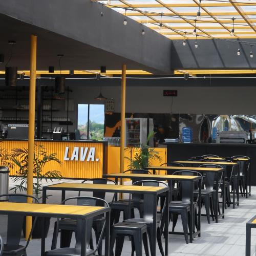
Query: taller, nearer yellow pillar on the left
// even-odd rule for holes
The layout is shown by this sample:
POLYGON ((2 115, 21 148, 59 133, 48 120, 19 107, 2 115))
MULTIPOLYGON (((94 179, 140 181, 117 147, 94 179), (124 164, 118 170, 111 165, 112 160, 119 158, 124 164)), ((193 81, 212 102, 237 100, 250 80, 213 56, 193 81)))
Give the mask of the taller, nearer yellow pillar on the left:
MULTIPOLYGON (((30 48, 30 83, 29 83, 29 143, 28 143, 28 177, 27 195, 33 196, 34 136, 35 136, 35 91, 36 91, 36 45, 37 37, 31 35, 30 48)), ((32 203, 32 198, 28 198, 32 203)), ((32 217, 26 219, 26 240, 32 227, 32 217)))

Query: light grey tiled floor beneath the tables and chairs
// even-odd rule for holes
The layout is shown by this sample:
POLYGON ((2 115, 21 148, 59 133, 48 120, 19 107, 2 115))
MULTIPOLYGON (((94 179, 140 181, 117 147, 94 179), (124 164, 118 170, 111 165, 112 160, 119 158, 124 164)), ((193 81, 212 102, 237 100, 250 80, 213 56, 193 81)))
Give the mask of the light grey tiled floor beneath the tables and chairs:
MULTIPOLYGON (((67 182, 67 180, 65 180, 67 182)), ((12 183, 10 184, 12 185, 12 183)), ((51 191, 52 192, 52 191, 51 191)), ((49 203, 60 202, 60 192, 53 191, 48 200, 49 203)), ((66 197, 77 196, 77 193, 66 193, 66 197)), ((108 195, 111 196, 111 195, 108 195)), ((240 205, 236 209, 231 206, 225 212, 225 219, 220 219, 219 223, 212 222, 208 224, 206 217, 201 220, 201 238, 196 238, 193 244, 185 244, 183 236, 169 236, 169 255, 172 256, 243 256, 245 255, 245 223, 256 215, 256 187, 252 187, 252 196, 248 199, 240 198, 240 205)), ((46 249, 50 249, 53 233, 53 222, 46 241, 46 249)), ((6 237, 6 216, 0 218, 0 233, 6 237)), ((178 220, 177 231, 182 230, 181 221, 178 220)), ((25 243, 22 239, 22 243, 25 243)), ((164 241, 164 240, 163 240, 164 241)), ((73 241, 74 242, 74 241, 73 241)), ((251 233, 251 252, 255 255, 256 229, 251 233)), ((27 249, 28 255, 40 255, 40 240, 32 240, 27 249)), ((123 247, 123 256, 131 255, 131 242, 125 240, 123 247)), ((158 255, 160 255, 158 251, 158 255)))

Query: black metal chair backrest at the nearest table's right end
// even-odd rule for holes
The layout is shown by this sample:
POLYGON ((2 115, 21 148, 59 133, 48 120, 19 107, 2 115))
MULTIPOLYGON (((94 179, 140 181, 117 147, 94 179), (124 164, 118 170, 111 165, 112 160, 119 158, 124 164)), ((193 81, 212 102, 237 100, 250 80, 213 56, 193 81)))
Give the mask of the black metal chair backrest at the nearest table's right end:
MULTIPOLYGON (((106 202, 104 199, 102 198, 96 198, 96 197, 70 197, 67 198, 65 200, 63 200, 61 202, 61 204, 66 204, 66 202, 71 201, 71 200, 77 200, 77 205, 84 205, 84 206, 98 206, 98 205, 105 205, 106 207, 110 207, 109 203, 106 202)), ((90 218, 87 219, 86 221, 86 234, 87 234, 87 241, 86 241, 86 248, 88 248, 88 246, 90 245, 90 240, 91 240, 91 234, 92 234, 92 227, 93 227, 93 219, 94 218, 90 218)), ((57 230, 58 228, 58 224, 59 223, 59 219, 57 219, 57 230)), ((81 238, 82 238, 82 232, 84 232, 84 230, 82 230, 82 220, 77 220, 76 222, 77 224, 77 233, 76 233, 76 248, 81 248, 81 238)), ((103 224, 103 228, 101 230, 100 233, 100 237, 96 246, 96 249, 94 250, 94 252, 96 252, 98 250, 98 247, 100 245, 100 242, 102 241, 103 238, 103 233, 104 233, 104 229, 105 229, 105 221, 103 224)))

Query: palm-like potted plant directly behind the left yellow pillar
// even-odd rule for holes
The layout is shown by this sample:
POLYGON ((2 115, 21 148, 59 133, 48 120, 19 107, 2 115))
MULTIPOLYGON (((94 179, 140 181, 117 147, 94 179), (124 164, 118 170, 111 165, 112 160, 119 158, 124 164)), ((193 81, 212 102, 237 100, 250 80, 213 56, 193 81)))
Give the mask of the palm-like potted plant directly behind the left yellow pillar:
MULTIPOLYGON (((19 184, 15 185, 12 189, 15 190, 15 193, 17 190, 26 191, 28 176, 28 149, 13 148, 11 152, 11 159, 13 163, 18 167, 16 172, 17 176, 14 177, 13 180, 14 182, 19 182, 19 184)), ((61 173, 58 170, 48 170, 46 173, 43 172, 45 165, 49 162, 56 162, 61 164, 61 161, 57 158, 56 153, 48 153, 44 146, 35 144, 33 194, 38 200, 41 199, 40 195, 42 191, 42 180, 48 181, 49 179, 50 181, 53 181, 60 180, 62 178, 61 173)))

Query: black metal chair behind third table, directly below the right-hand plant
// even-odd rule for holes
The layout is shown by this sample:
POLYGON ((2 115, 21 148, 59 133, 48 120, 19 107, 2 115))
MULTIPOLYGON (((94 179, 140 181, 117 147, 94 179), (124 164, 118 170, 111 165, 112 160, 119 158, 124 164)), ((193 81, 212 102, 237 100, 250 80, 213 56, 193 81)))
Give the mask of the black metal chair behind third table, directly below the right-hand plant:
MULTIPOLYGON (((151 174, 149 170, 143 170, 143 169, 131 169, 131 170, 125 170, 123 173, 128 173, 130 172, 131 174, 151 174)), ((137 181, 140 181, 142 179, 139 178, 133 178, 132 184, 134 184, 137 181)), ((139 185, 139 184, 138 184, 139 185)), ((132 208, 132 217, 134 218, 134 208, 137 208, 140 214, 140 218, 143 217, 143 195, 138 195, 138 194, 133 194, 132 195, 132 200, 129 199, 123 199, 119 200, 118 202, 131 202, 133 204, 132 208)))

